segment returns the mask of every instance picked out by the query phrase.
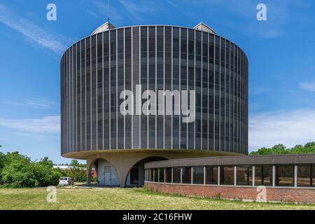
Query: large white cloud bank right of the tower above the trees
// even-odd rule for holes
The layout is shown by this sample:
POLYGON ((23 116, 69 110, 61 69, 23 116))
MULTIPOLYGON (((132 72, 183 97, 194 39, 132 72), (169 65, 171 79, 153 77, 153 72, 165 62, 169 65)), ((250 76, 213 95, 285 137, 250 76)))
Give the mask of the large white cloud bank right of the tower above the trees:
POLYGON ((249 151, 284 144, 293 147, 315 141, 315 110, 260 113, 249 119, 249 151))

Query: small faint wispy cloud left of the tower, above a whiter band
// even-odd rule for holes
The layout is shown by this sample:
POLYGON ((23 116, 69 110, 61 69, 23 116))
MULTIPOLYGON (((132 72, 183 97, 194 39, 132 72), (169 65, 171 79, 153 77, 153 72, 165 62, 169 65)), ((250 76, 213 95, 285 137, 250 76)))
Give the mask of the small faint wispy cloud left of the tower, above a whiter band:
POLYGON ((50 109, 56 103, 42 97, 32 97, 29 99, 22 99, 20 102, 5 102, 5 104, 13 106, 27 106, 34 109, 50 109))

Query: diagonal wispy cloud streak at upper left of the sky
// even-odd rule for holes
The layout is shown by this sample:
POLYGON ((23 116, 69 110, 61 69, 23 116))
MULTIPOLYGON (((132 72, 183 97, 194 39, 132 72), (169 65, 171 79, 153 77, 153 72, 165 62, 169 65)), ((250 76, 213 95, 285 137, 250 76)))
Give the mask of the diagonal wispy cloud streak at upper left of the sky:
POLYGON ((16 15, 2 3, 0 3, 0 22, 18 31, 28 40, 34 41, 37 45, 48 48, 57 54, 64 52, 67 43, 70 41, 64 36, 50 34, 50 32, 38 27, 30 20, 16 15))

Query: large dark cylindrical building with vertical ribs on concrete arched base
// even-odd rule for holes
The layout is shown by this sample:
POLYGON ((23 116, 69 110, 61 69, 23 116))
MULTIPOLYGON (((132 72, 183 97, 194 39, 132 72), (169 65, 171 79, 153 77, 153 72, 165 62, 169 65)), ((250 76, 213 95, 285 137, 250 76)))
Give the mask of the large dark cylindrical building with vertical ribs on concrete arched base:
POLYGON ((87 160, 101 185, 141 186, 148 161, 248 153, 247 57, 202 23, 107 22, 64 53, 61 97, 62 156, 87 160), (140 85, 156 92, 156 113, 124 115, 121 92, 140 85), (159 90, 194 90, 195 120, 158 113, 159 90))

